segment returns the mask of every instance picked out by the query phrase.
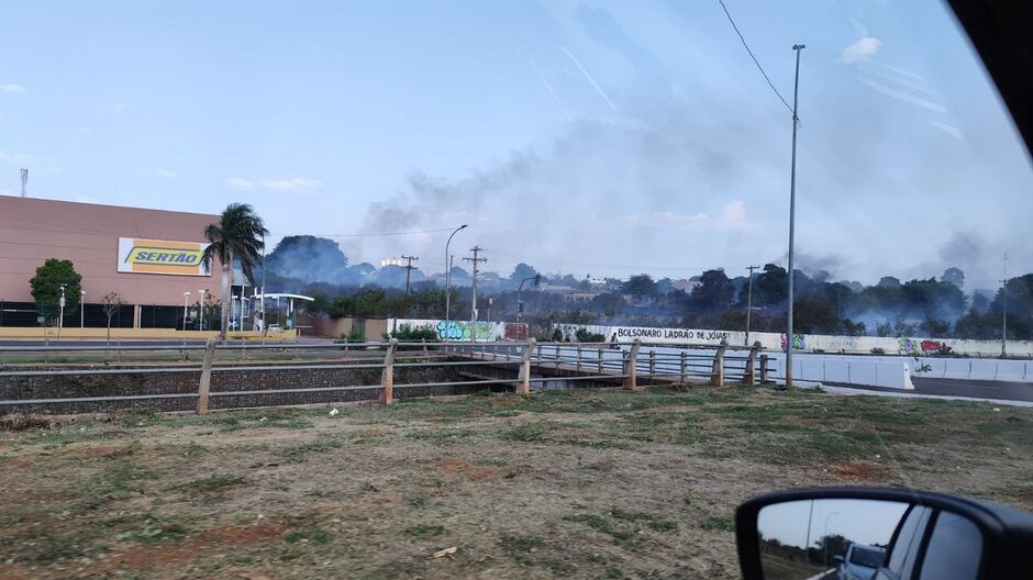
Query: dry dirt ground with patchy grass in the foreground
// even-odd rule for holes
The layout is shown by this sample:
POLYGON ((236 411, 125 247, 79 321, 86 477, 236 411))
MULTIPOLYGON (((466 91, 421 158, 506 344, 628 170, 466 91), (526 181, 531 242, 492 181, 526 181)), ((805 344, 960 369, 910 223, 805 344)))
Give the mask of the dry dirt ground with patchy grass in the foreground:
POLYGON ((735 506, 767 491, 1033 510, 1033 410, 987 403, 584 390, 45 423, 0 417, 0 578, 737 578, 735 506))

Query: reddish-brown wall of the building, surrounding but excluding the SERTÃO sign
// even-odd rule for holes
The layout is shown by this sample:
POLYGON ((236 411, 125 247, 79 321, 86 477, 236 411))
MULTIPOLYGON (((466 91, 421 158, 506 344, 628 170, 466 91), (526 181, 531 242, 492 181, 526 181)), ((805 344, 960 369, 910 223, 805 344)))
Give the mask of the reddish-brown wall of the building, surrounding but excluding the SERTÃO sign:
POLYGON ((0 297, 32 302, 29 280, 46 258, 69 259, 82 276, 86 302, 119 292, 129 304, 182 305, 184 292, 216 299, 222 272, 209 276, 119 272, 119 237, 204 242, 218 215, 0 196, 0 297))

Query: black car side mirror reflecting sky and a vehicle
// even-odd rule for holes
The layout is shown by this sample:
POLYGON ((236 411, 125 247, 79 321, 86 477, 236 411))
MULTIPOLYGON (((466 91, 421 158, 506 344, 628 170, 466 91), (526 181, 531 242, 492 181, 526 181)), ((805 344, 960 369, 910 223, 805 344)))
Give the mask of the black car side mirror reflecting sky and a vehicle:
POLYGON ((1033 578, 1033 514, 904 489, 827 488, 755 498, 735 514, 746 580, 1033 578))

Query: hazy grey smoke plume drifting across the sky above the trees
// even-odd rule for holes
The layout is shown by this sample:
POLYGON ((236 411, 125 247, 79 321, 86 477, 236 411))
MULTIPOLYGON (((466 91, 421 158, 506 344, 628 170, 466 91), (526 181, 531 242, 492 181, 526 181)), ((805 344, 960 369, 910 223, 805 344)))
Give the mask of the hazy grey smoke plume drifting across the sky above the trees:
MULTIPOLYGON (((727 91, 695 90, 698 71, 635 42, 607 10, 579 8, 575 25, 587 31, 586 42, 620 55, 620 75, 630 70, 637 85, 608 87, 607 78, 620 75, 601 74, 585 46, 564 47, 591 75, 579 92, 559 93, 574 121, 465 176, 413 171, 404 188, 368 208, 362 231, 468 223, 452 245, 456 264, 476 244, 487 248, 486 269, 503 275, 518 261, 541 271, 673 278, 715 267, 734 276, 749 264, 787 266, 791 121, 769 102, 774 96, 760 93, 763 85, 752 83, 755 71, 749 90, 740 79, 727 91), (586 99, 595 102, 579 107, 586 99)), ((1033 172, 1017 143, 1001 137, 1000 111, 948 107, 949 90, 886 64, 892 53, 865 41, 841 55, 852 66, 833 56, 804 69, 798 267, 874 283, 887 275, 938 277, 957 266, 970 290, 1000 276, 996 265, 1011 245, 1014 271, 1033 270, 1031 248, 1021 243, 1021 216, 1033 214, 1026 194, 1033 172), (870 79, 855 78, 859 66, 924 101, 870 90, 870 79), (826 88, 822 75, 854 78, 853 88, 826 88), (922 129, 901 133, 914 115, 928 116, 922 129), (980 170, 970 170, 976 165, 980 170)), ((536 62, 543 54, 534 53, 536 62)), ((367 261, 419 254, 430 274, 444 269, 447 235, 341 243, 349 257, 367 261)))

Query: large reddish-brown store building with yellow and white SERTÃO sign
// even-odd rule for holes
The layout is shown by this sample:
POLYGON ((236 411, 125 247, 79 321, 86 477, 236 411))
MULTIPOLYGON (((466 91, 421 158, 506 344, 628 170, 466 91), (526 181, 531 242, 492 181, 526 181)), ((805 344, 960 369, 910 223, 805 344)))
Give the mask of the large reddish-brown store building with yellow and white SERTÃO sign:
MULTIPOLYGON (((196 304, 204 291, 209 301, 220 298, 221 266, 208 271, 200 260, 204 227, 218 219, 0 196, 0 325, 36 324, 29 280, 44 260, 62 258, 82 276, 86 326, 107 324, 101 297, 118 292, 125 305, 113 326, 181 327, 185 300, 196 304)), ((65 321, 79 323, 79 313, 65 321)))

